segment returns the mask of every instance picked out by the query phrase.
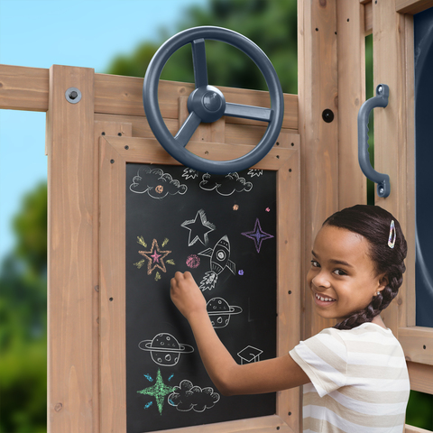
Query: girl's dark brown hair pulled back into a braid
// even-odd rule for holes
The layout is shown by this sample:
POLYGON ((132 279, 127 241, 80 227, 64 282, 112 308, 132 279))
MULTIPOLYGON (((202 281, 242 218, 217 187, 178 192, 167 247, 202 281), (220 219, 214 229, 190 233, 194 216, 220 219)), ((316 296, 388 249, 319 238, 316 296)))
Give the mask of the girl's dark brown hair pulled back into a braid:
POLYGON ((390 305, 397 296, 406 271, 404 259, 408 251, 400 223, 388 211, 379 206, 356 205, 336 212, 323 226, 345 228, 364 236, 368 241, 368 255, 374 263, 376 275, 385 274, 388 285, 373 296, 365 309, 355 311, 351 316, 336 324, 336 329, 352 329, 365 322, 371 322, 382 309, 390 305), (392 221, 395 232, 392 233, 392 221), (395 241, 389 246, 390 235, 395 241), (395 238, 394 238, 395 236, 395 238))

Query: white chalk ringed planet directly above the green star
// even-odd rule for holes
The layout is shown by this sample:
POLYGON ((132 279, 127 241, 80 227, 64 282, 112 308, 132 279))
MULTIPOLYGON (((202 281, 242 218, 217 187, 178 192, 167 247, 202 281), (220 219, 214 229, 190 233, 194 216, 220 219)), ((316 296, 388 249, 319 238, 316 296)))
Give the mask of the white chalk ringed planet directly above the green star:
POLYGON ((152 340, 143 340, 138 346, 150 352, 155 364, 164 367, 171 367, 178 364, 181 354, 191 354, 194 347, 191 345, 181 345, 178 340, 167 333, 161 333, 153 337, 152 340))

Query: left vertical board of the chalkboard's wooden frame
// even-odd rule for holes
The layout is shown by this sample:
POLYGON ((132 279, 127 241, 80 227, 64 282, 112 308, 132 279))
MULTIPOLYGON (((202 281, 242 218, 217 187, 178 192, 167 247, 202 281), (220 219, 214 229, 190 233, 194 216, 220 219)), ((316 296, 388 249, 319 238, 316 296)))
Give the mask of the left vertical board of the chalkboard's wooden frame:
POLYGON ((100 138, 100 426, 126 431, 125 163, 100 138))

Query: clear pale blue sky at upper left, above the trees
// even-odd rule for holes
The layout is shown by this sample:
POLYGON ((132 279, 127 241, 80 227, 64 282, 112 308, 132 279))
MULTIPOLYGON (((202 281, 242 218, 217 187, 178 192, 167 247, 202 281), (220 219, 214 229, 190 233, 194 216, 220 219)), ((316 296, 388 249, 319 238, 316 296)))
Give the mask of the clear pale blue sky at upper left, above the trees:
MULTIPOLYGON (((161 29, 174 34, 191 5, 207 0, 0 0, 0 63, 105 73, 117 54, 161 41, 161 29)), ((14 246, 23 194, 47 179, 45 117, 0 110, 0 260, 14 246)))

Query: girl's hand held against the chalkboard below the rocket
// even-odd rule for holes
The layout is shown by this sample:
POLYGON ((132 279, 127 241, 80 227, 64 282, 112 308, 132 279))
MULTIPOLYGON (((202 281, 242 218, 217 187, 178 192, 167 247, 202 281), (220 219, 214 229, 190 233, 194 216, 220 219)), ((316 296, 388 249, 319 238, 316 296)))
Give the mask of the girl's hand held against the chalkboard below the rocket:
POLYGON ((170 281, 170 296, 174 305, 189 320, 195 312, 207 314, 206 299, 190 272, 176 272, 170 281))

